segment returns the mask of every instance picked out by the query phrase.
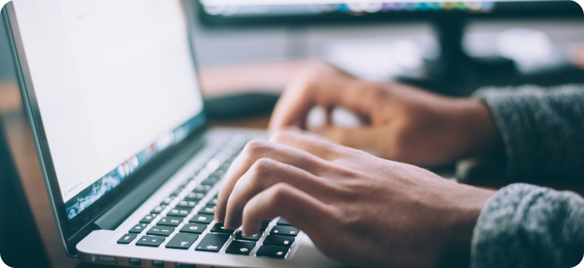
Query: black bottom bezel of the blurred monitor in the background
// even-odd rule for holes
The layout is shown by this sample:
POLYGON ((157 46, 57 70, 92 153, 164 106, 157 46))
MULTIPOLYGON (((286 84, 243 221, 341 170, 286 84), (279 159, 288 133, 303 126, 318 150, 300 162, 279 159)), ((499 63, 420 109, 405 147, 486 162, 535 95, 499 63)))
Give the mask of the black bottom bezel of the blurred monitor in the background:
POLYGON ((445 19, 449 14, 464 16, 468 19, 566 18, 582 17, 583 11, 582 9, 573 9, 575 5, 579 5, 575 1, 538 1, 538 6, 536 7, 527 5, 529 2, 517 1, 499 2, 498 4, 502 6, 496 8, 492 13, 443 10, 425 12, 377 12, 364 13, 359 16, 337 12, 318 15, 230 17, 210 15, 203 10, 203 4, 199 0, 194 1, 196 1, 197 18, 201 22, 201 25, 207 28, 298 27, 321 24, 419 22, 445 19))

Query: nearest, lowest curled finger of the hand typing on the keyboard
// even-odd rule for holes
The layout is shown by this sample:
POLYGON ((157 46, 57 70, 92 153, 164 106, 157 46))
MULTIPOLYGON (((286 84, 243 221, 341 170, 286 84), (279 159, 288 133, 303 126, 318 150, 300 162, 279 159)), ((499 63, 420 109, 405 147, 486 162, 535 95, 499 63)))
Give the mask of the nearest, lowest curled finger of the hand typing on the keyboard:
POLYGON ((315 228, 331 218, 332 207, 286 183, 260 192, 245 205, 243 232, 256 234, 262 220, 283 216, 309 236, 315 228))

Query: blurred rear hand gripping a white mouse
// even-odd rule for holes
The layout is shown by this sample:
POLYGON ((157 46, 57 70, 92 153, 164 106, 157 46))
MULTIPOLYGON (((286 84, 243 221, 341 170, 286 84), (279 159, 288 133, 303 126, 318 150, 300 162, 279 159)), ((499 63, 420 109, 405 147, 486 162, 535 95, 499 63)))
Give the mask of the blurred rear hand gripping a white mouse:
POLYGON ((307 114, 315 106, 325 111, 341 106, 367 121, 360 128, 327 125, 315 132, 389 160, 443 165, 501 144, 491 114, 479 100, 363 81, 322 63, 313 64, 289 84, 270 119, 270 132, 283 126, 305 128, 307 114))

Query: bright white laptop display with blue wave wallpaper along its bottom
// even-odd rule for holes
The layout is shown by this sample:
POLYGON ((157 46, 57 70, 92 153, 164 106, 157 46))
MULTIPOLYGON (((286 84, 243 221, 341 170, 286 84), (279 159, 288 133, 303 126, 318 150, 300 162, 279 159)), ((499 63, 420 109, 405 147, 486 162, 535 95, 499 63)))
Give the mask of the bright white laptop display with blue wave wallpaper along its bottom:
POLYGON ((69 220, 204 123, 179 1, 13 6, 69 220))

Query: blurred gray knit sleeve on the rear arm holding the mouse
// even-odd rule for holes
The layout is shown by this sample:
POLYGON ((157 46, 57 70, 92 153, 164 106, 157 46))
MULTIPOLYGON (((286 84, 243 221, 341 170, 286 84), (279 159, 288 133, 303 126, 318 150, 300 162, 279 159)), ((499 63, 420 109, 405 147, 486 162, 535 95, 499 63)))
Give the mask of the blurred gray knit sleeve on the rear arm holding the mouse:
POLYGON ((506 172, 516 181, 584 174, 584 85, 484 88, 474 94, 503 139, 506 172))

